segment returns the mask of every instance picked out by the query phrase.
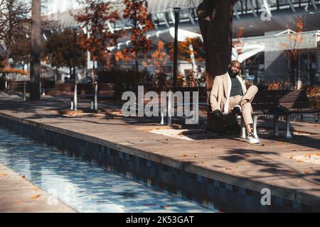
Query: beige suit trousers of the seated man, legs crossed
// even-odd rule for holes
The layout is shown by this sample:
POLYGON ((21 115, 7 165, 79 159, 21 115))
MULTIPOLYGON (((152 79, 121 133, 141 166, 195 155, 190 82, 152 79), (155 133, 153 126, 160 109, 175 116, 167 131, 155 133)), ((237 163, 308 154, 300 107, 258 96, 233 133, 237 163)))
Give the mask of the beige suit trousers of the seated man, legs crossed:
POLYGON ((252 120, 252 106, 251 101, 255 98, 255 94, 257 94, 258 88, 255 85, 252 85, 247 89, 247 92, 243 96, 231 96, 229 99, 229 113, 237 104, 241 104, 241 112, 243 120, 245 121, 245 126, 253 123, 252 120))

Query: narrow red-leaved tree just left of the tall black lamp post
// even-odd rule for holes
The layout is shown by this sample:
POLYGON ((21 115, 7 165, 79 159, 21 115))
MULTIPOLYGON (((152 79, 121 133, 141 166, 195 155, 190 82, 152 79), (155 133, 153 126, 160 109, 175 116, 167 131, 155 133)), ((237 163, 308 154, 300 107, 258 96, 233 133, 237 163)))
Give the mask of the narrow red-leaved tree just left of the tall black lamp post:
POLYGON ((131 46, 125 50, 125 54, 134 58, 136 70, 139 70, 139 54, 145 54, 151 50, 151 41, 146 38, 146 33, 154 28, 148 12, 146 0, 123 0, 123 18, 130 21, 129 29, 131 46))

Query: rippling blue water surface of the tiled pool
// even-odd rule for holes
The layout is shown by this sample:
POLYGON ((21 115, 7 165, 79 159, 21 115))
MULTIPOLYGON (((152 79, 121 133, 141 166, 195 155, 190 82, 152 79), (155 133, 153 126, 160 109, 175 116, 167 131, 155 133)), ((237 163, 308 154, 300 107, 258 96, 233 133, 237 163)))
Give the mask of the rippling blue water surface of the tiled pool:
POLYGON ((213 212, 0 128, 0 163, 80 212, 213 212))

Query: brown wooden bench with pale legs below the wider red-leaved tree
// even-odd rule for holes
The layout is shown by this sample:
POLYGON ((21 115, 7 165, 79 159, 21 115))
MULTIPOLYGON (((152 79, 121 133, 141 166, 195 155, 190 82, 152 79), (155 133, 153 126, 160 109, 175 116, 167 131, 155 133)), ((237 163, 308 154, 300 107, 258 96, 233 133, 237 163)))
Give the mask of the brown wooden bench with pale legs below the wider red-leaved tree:
POLYGON ((91 100, 91 109, 97 110, 97 98, 110 99, 114 97, 114 84, 56 84, 48 94, 51 96, 66 96, 71 100, 71 108, 77 109, 78 97, 91 100), (94 106, 93 106, 94 104, 94 106))

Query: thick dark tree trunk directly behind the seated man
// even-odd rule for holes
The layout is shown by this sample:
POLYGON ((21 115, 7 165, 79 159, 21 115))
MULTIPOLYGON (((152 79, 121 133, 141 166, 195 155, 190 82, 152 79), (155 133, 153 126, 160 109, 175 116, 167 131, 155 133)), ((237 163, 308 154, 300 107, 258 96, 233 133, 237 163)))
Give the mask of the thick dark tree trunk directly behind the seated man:
POLYGON ((235 2, 235 0, 203 0, 197 9, 206 52, 206 87, 209 103, 207 129, 217 133, 239 129, 238 123, 230 117, 223 117, 220 120, 213 118, 210 115, 209 100, 213 79, 228 72, 231 61, 235 2))

